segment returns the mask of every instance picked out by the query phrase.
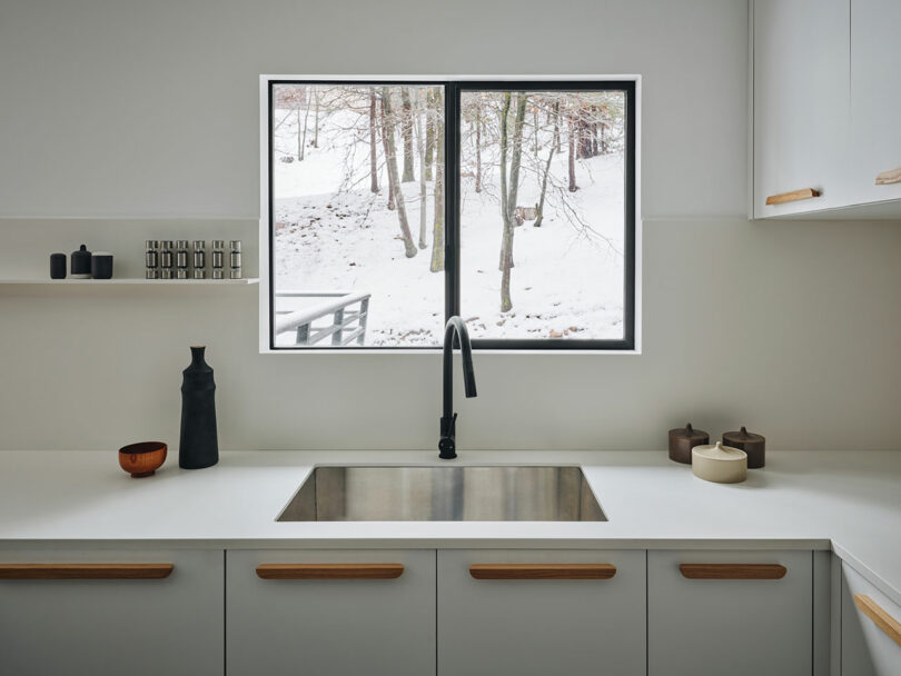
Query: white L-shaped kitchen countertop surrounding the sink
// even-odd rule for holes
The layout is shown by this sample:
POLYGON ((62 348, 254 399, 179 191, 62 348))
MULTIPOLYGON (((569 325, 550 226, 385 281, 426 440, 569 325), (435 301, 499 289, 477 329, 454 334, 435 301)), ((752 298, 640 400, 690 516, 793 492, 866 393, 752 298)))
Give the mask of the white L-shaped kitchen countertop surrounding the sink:
POLYGON ((0 451, 0 547, 830 549, 901 604, 901 453, 768 453, 744 484, 665 451, 462 451, 457 464, 581 465, 608 521, 277 523, 311 467, 438 465, 437 451, 170 454, 131 479, 116 451, 0 451))

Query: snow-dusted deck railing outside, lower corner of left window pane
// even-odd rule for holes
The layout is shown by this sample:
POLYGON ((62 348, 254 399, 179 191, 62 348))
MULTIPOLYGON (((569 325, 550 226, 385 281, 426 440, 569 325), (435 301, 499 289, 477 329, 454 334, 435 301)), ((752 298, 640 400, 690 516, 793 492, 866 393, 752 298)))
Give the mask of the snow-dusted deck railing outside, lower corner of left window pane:
MULTIPOLYGON (((276 336, 286 331, 296 331, 296 344, 316 345, 324 338, 331 337, 331 345, 340 347, 354 340, 363 345, 366 338, 366 320, 369 315, 369 294, 354 291, 277 291, 275 295, 276 336), (279 309, 279 299, 321 298, 317 302, 299 310, 279 309), (356 309, 348 309, 358 305, 356 309), (331 315, 331 324, 314 327, 317 319, 331 315)), ((284 308, 284 302, 281 304, 284 308)))

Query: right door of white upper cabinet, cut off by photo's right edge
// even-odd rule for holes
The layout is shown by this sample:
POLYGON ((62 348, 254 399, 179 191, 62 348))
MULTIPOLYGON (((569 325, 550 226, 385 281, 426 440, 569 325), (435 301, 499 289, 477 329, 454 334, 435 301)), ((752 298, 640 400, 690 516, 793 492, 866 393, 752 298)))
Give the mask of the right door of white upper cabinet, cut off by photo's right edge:
POLYGON ((901 170, 901 2, 851 2, 851 188, 855 202, 901 199, 901 182, 875 185, 901 170))

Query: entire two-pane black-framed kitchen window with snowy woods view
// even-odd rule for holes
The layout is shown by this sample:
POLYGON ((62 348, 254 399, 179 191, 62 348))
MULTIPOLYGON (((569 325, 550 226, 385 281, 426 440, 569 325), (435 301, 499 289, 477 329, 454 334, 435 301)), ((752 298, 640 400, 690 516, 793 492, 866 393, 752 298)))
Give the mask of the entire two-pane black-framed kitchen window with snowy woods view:
POLYGON ((634 79, 263 83, 265 349, 635 349, 634 79))

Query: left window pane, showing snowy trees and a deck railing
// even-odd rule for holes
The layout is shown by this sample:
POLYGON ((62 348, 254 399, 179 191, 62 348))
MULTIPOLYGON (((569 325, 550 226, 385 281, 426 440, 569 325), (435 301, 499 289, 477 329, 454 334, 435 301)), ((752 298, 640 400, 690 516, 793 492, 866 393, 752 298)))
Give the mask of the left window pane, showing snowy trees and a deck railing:
POLYGON ((437 346, 444 88, 274 84, 271 115, 276 347, 437 346))

